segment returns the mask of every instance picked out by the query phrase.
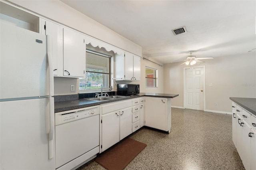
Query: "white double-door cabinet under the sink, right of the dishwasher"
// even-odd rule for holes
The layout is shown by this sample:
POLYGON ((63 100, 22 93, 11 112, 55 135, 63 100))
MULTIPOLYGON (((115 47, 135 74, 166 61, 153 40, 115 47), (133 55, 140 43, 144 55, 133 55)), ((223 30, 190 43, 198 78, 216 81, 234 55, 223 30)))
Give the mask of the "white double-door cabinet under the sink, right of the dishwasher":
POLYGON ((100 152, 132 133, 132 100, 100 105, 100 152))

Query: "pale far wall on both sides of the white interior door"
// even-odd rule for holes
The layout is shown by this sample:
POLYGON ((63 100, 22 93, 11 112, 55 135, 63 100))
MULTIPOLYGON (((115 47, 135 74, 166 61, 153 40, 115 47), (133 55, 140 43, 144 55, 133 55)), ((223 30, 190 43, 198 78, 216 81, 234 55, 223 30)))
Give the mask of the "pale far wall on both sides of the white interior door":
MULTIPOLYGON (((256 98, 256 52, 204 60, 206 69, 206 111, 231 112, 229 97, 256 98), (213 86, 209 86, 212 83, 213 86), (215 106, 215 103, 218 103, 215 106)), ((164 93, 178 93, 172 105, 183 107, 183 68, 164 64, 164 93)))

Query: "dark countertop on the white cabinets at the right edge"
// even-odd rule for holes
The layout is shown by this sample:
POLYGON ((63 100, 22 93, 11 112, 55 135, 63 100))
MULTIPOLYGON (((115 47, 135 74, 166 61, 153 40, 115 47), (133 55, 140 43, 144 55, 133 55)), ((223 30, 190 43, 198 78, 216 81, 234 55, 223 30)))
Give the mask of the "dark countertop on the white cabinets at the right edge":
POLYGON ((229 99, 256 116, 256 98, 230 97, 229 99))

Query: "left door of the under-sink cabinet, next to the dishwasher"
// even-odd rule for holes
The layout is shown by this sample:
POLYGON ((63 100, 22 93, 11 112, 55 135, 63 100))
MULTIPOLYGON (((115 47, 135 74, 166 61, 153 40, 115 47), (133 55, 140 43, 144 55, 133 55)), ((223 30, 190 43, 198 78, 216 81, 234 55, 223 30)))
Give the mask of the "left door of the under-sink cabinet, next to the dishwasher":
POLYGON ((119 142, 120 111, 102 115, 102 152, 119 142))

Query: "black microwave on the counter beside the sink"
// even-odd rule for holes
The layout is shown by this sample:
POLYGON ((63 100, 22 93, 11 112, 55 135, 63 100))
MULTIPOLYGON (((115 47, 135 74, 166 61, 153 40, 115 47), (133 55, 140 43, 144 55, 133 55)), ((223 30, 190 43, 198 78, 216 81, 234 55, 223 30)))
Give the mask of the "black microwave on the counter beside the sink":
POLYGON ((139 84, 118 84, 117 95, 135 95, 140 93, 139 84))

